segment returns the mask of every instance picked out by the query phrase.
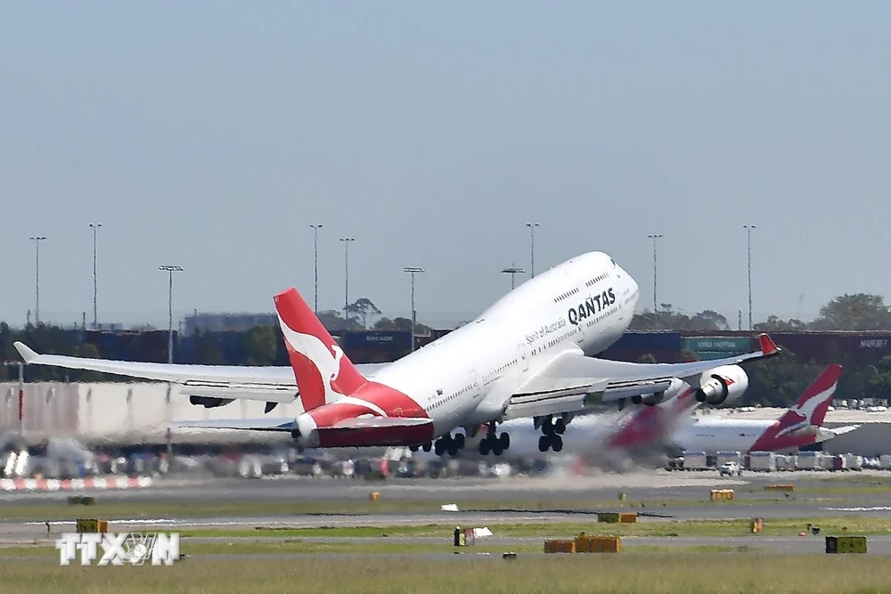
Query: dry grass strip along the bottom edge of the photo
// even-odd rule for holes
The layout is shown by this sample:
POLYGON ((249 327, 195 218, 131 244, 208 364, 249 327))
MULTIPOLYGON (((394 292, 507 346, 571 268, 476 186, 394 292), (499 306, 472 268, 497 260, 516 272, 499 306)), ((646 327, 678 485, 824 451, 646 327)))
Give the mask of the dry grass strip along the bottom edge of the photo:
POLYGON ((186 559, 173 567, 0 565, 9 592, 84 594, 486 594, 648 592, 651 594, 866 594, 891 592, 887 557, 735 554, 526 556, 424 560, 186 559))

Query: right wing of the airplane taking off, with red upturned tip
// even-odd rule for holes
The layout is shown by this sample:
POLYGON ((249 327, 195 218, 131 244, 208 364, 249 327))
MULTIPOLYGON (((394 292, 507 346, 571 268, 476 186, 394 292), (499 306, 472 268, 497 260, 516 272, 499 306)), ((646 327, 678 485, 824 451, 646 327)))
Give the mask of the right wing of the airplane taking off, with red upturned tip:
MULTIPOLYGON (((585 356, 580 348, 555 355, 511 395, 505 419, 584 411, 593 403, 614 402, 661 392, 672 379, 690 380, 721 365, 756 361, 780 353, 766 334, 760 350, 724 359, 688 363, 631 363, 585 356)), ((693 385, 698 385, 694 381, 693 385)))

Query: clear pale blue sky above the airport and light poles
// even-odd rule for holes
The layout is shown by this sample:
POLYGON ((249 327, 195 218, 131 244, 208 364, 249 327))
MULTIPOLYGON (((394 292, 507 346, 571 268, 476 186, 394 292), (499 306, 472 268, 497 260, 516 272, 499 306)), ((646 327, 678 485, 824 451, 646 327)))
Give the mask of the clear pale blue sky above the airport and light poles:
POLYGON ((350 297, 456 321, 498 273, 609 252, 650 306, 891 296, 891 4, 4 3, 0 318, 350 297))

